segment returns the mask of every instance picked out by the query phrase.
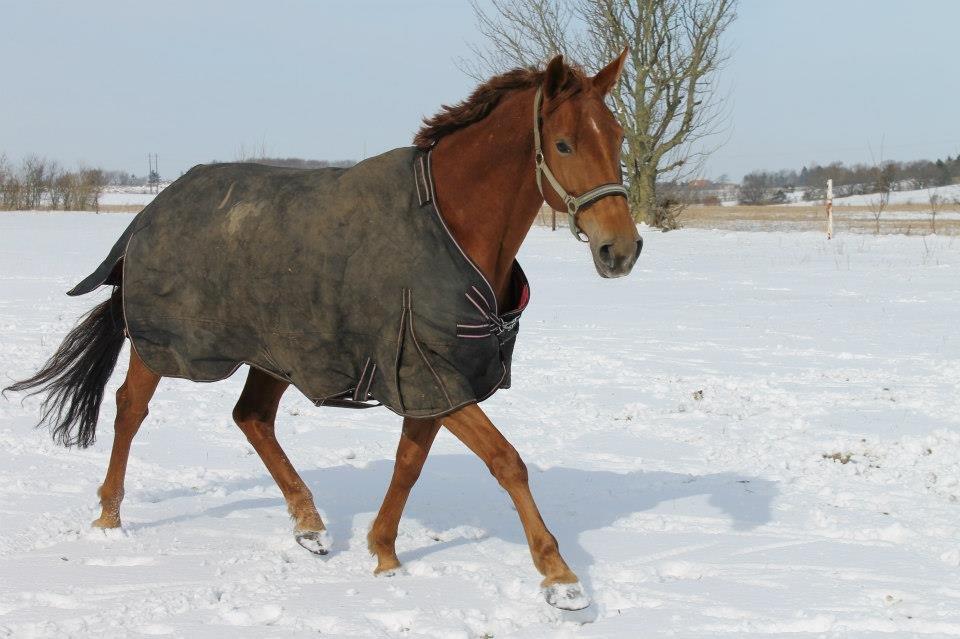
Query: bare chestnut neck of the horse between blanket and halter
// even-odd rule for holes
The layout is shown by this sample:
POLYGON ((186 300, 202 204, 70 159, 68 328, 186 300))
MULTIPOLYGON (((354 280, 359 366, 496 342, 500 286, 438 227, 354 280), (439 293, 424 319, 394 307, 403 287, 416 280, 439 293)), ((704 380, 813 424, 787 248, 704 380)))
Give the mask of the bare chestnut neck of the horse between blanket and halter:
POLYGON ((501 303, 543 203, 534 175, 532 109, 532 90, 505 97, 483 120, 440 140, 431 162, 443 219, 501 303))

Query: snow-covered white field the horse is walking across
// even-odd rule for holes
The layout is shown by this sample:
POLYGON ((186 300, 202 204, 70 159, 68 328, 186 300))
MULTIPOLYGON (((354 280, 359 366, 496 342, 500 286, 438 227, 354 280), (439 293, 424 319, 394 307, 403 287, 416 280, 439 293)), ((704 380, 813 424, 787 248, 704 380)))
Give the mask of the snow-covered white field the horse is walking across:
MULTIPOLYGON (((0 214, 0 379, 93 304, 63 291, 129 220, 0 214)), ((509 499, 449 434, 401 523, 407 574, 375 578, 399 420, 291 391, 281 441, 336 537, 302 550, 230 420, 238 373, 161 383, 109 534, 88 525, 112 402, 96 445, 64 450, 31 429, 36 400, 0 400, 0 636, 960 634, 960 240, 645 239, 604 281, 568 234, 533 230, 514 388, 486 403, 589 615, 543 602, 509 499)))

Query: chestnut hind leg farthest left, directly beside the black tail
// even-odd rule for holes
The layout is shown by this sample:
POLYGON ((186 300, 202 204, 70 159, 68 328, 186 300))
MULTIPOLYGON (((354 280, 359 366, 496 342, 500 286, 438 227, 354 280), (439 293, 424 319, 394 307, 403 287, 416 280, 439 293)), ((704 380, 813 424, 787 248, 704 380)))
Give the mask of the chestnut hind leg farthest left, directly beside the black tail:
POLYGON ((147 404, 157 390, 160 376, 151 372, 130 349, 130 367, 127 378, 117 390, 117 417, 113 424, 113 450, 107 476, 97 493, 100 495, 100 518, 93 522, 98 528, 120 526, 120 502, 123 501, 123 480, 127 474, 130 444, 147 417, 147 404))

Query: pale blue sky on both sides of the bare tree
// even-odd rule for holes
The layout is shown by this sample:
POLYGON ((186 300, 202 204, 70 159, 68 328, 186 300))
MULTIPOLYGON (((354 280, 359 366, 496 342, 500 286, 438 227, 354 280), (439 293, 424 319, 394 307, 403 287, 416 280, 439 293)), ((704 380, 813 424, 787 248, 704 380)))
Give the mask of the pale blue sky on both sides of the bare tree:
MULTIPOLYGON (((0 153, 164 177, 361 159, 465 97, 466 0, 0 0, 0 153)), ((953 0, 742 0, 704 175, 960 151, 953 0)))

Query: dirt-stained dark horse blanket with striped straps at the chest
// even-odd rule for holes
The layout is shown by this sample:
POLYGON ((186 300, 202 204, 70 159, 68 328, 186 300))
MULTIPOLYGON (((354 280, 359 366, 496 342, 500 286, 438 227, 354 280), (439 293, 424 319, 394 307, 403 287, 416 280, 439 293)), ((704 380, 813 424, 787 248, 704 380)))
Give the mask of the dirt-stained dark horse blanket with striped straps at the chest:
POLYGON ((159 375, 215 381, 247 363, 316 404, 409 417, 509 387, 529 299, 514 262, 498 308, 415 148, 348 169, 194 167, 68 294, 102 284, 121 286, 127 334, 159 375))

